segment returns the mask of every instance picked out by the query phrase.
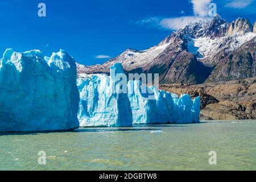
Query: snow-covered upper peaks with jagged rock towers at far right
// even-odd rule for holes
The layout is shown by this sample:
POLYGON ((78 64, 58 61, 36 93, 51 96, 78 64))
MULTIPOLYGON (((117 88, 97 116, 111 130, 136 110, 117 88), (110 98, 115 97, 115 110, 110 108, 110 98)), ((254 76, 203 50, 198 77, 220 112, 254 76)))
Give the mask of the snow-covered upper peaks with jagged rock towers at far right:
POLYGON ((204 26, 188 26, 182 31, 188 51, 207 65, 218 63, 212 59, 216 53, 228 55, 256 36, 248 19, 237 18, 229 24, 220 15, 214 16, 204 26))

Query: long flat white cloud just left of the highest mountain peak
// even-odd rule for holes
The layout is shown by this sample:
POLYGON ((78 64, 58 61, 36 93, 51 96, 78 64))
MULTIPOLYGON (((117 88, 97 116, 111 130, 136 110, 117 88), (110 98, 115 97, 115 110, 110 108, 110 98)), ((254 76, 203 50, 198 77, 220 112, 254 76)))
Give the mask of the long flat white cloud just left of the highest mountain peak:
POLYGON ((199 22, 200 20, 205 20, 208 18, 200 16, 181 16, 178 18, 164 18, 161 21, 161 26, 171 30, 177 30, 178 28, 183 27, 188 22, 199 22))

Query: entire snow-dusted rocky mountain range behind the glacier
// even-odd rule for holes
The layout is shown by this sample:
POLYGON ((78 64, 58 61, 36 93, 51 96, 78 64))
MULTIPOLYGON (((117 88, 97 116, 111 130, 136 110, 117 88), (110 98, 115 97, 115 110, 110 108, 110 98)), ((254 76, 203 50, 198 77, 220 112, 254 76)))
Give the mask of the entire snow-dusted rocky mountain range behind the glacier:
POLYGON ((160 82, 181 84, 252 77, 255 29, 247 19, 228 23, 216 15, 211 20, 188 23, 158 46, 144 51, 127 49, 102 65, 77 64, 77 69, 78 73, 109 73, 110 65, 122 63, 127 73, 159 73, 160 82), (249 52, 246 47, 250 47, 249 52))

